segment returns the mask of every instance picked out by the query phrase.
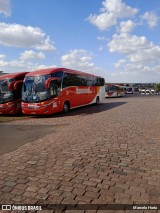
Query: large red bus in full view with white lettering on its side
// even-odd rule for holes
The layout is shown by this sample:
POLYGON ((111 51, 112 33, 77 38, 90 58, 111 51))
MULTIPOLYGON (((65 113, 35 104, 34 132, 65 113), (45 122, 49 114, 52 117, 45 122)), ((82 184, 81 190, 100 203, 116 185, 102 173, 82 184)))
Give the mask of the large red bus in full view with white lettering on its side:
POLYGON ((79 106, 98 104, 105 97, 104 93, 104 78, 99 76, 66 68, 37 70, 24 79, 22 112, 68 112, 79 106))

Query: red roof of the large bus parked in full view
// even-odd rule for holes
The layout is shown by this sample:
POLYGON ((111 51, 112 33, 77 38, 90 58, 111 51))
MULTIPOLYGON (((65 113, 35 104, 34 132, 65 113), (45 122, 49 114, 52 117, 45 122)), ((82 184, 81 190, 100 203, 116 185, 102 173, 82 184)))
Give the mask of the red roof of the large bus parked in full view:
POLYGON ((71 74, 86 75, 86 76, 92 76, 92 77, 100 77, 100 76, 95 76, 95 75, 92 75, 89 73, 66 69, 66 68, 60 68, 60 67, 35 70, 35 71, 28 73, 27 76, 47 75, 47 74, 52 74, 57 71, 63 71, 63 72, 71 73, 71 74))

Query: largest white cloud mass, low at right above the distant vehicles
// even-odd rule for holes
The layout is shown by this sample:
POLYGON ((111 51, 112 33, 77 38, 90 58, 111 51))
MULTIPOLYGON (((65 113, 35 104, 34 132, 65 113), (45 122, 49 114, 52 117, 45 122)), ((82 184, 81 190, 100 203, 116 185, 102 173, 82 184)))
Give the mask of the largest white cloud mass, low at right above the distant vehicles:
POLYGON ((127 33, 115 34, 108 43, 110 52, 124 56, 114 65, 111 79, 118 82, 157 82, 160 79, 160 46, 144 36, 127 33))

